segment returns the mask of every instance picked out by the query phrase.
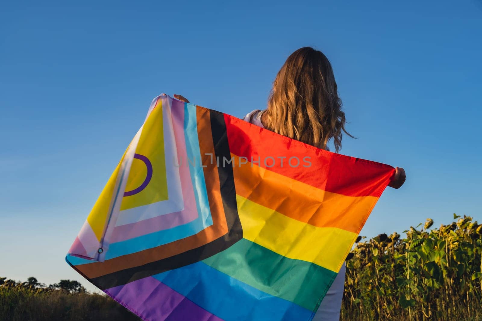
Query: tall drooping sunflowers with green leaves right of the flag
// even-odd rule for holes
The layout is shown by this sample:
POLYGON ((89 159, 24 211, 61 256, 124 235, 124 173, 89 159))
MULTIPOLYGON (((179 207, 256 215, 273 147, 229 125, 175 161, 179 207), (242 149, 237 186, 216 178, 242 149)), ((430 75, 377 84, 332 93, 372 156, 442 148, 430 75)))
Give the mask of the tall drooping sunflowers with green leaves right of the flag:
POLYGON ((454 214, 380 234, 347 261, 342 320, 482 320, 481 225, 454 214), (384 235, 381 237, 381 235, 384 235))

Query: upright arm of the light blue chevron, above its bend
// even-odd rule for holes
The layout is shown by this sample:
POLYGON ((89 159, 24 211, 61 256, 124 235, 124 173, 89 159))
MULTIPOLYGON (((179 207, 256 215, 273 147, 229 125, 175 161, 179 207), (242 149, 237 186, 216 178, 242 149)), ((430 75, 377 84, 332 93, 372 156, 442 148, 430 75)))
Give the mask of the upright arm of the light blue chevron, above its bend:
POLYGON ((197 107, 192 103, 184 104, 184 133, 186 140, 187 158, 194 161, 194 166, 189 164, 192 186, 194 186, 194 196, 198 213, 203 218, 204 228, 213 225, 211 209, 209 207, 208 192, 206 191, 206 181, 204 180, 204 170, 201 159, 201 147, 198 137, 198 119, 196 116, 197 107))

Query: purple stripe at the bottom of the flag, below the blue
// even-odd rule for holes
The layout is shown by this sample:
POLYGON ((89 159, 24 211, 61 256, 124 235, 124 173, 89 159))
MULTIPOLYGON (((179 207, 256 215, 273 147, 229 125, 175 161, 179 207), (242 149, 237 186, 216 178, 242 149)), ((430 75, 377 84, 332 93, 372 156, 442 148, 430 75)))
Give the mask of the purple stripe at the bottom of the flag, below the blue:
POLYGON ((222 321, 150 276, 104 292, 142 320, 222 321))

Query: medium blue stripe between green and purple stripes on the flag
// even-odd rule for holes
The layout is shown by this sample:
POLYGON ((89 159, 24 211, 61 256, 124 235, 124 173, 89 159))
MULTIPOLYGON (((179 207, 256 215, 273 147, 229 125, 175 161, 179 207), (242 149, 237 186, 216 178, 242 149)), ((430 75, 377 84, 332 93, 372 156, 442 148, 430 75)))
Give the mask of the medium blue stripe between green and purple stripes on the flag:
POLYGON ((201 308, 226 320, 310 320, 312 312, 264 293, 202 262, 153 276, 201 308))

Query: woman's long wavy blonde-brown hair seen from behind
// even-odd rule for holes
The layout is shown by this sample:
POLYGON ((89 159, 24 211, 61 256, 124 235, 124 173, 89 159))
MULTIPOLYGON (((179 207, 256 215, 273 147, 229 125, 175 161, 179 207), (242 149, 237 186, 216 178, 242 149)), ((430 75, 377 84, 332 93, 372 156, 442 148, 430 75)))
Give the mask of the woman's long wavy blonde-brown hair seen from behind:
POLYGON ((326 149, 334 140, 341 149, 345 113, 330 61, 310 47, 293 52, 278 72, 262 121, 283 136, 326 149))

